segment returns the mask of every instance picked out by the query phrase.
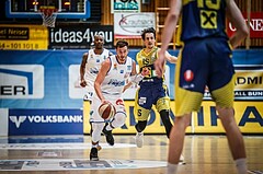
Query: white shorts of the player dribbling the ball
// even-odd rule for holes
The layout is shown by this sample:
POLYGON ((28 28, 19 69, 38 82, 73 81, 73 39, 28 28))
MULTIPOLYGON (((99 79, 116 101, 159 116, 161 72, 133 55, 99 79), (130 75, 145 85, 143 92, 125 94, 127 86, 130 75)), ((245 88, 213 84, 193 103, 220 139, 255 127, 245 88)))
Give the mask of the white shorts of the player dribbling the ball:
MULTIPOLYGON (((114 107, 116 108, 116 113, 117 112, 126 113, 125 106, 124 106, 124 101, 123 101, 122 97, 115 96, 115 95, 108 95, 108 94, 107 95, 104 94, 104 97, 114 105, 114 107)), ((98 109, 99 109, 100 105, 101 105, 101 100, 94 93, 94 95, 92 97, 92 103, 91 103, 90 123, 105 123, 105 121, 108 121, 108 120, 104 120, 99 115, 98 109)), ((114 116, 113 116, 113 118, 114 118, 114 116)))

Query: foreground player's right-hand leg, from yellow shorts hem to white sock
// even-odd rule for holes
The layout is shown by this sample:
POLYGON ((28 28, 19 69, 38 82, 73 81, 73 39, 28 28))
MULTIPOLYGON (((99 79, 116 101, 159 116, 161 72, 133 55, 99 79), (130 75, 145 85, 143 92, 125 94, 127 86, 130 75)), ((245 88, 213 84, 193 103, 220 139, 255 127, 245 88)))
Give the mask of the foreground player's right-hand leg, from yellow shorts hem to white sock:
POLYGON ((235 119, 233 109, 233 88, 235 78, 225 86, 211 92, 211 96, 216 102, 218 117, 226 130, 229 148, 236 162, 238 174, 245 174, 247 156, 242 134, 235 119))

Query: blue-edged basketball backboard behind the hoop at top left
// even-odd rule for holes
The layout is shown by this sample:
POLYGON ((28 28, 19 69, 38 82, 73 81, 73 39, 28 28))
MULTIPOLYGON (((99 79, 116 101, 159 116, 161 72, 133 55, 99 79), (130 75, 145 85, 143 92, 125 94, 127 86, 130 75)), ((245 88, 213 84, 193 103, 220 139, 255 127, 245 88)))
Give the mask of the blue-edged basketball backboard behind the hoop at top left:
POLYGON ((57 19, 89 19, 89 0, 5 0, 5 15, 10 19, 41 19, 39 8, 53 5, 57 19))

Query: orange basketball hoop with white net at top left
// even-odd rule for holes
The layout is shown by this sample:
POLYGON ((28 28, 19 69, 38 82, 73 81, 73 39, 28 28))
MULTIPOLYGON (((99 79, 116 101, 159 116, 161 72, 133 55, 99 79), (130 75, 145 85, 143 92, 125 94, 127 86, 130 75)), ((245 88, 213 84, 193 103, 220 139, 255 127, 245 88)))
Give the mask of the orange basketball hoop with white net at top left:
POLYGON ((55 27, 57 9, 55 7, 41 7, 39 12, 43 19, 43 25, 55 27))

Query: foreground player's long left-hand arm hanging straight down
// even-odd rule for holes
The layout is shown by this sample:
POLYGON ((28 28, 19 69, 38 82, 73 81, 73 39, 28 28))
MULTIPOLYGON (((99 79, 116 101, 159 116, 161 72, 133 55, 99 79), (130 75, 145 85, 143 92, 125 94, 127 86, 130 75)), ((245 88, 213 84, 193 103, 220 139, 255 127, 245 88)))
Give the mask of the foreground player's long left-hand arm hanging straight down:
POLYGON ((170 10, 165 18, 164 27, 161 36, 161 43, 162 43, 161 50, 159 51, 159 58, 155 62, 156 72, 159 78, 162 77, 164 72, 165 51, 173 36, 173 33, 176 30, 176 24, 181 13, 181 9, 182 9, 182 0, 170 1, 170 10))

